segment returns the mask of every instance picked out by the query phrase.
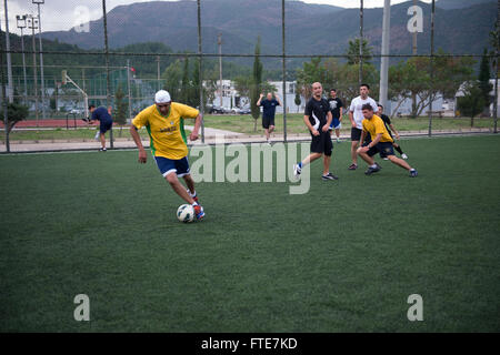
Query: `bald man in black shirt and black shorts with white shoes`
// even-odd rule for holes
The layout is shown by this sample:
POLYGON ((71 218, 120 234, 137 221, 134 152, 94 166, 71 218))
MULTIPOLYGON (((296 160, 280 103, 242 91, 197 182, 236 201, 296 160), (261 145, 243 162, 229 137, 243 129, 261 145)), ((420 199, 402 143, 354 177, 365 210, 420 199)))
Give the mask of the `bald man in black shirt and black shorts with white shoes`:
POLYGON ((338 180, 336 175, 330 172, 331 152, 333 144, 331 143, 331 136, 328 132, 332 120, 330 105, 327 99, 322 98, 323 88, 321 83, 314 82, 312 84, 312 98, 309 99, 306 104, 306 112, 303 115, 303 122, 311 132, 311 154, 306 156, 301 162, 293 164, 293 174, 296 178, 300 178, 302 168, 306 164, 313 162, 314 160, 323 155, 323 180, 338 180))

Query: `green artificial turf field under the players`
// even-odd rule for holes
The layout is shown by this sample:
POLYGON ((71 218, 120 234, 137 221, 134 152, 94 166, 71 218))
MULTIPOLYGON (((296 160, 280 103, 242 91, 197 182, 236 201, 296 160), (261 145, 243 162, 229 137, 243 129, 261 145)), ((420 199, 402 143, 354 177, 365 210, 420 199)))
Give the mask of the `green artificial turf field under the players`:
POLYGON ((403 140, 417 179, 334 145, 339 181, 199 183, 191 224, 137 151, 0 155, 0 332, 499 332, 500 138, 403 140))

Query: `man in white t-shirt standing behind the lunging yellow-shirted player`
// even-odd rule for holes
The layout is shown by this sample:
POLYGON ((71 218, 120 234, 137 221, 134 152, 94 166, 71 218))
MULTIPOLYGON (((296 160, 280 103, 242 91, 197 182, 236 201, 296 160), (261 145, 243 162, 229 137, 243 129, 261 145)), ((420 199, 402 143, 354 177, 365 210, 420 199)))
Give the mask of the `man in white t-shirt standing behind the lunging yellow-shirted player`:
POLYGON ((359 87, 359 93, 360 95, 354 98, 351 101, 351 105, 349 108, 349 120, 351 120, 351 159, 352 164, 349 165, 349 170, 356 170, 358 169, 358 153, 357 149, 359 145, 359 140, 361 138, 361 131, 363 129, 362 121, 363 121, 363 113, 361 108, 363 104, 371 104, 373 108, 373 112, 377 112, 378 106, 377 102, 371 99, 368 94, 370 92, 370 87, 368 84, 361 84, 359 87))

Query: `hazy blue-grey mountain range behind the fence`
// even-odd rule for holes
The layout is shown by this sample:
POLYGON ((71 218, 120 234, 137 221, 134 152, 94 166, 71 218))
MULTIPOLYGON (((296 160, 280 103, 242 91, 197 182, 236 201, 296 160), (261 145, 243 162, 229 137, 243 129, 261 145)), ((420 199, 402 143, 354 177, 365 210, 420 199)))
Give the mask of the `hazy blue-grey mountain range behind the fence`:
MULTIPOLYGON (((411 53, 407 30, 412 1, 391 7, 390 51, 411 53)), ((418 34, 418 53, 430 53, 431 6, 423 10, 423 33, 418 34)), ((380 53, 383 9, 364 9, 363 36, 380 53)), ((496 0, 438 0, 434 44, 446 52, 481 54, 489 47, 489 32, 497 18, 496 0)), ((197 2, 151 1, 119 6, 107 14, 111 49, 132 43, 161 42, 174 51, 198 51, 197 2)), ((222 36, 222 52, 253 53, 257 37, 261 53, 281 53, 281 0, 201 1, 202 51, 218 53, 217 36, 222 36)), ((286 29, 289 54, 343 54, 349 40, 359 37, 359 9, 287 1, 286 29)), ((44 32, 43 38, 76 44, 82 49, 102 49, 102 19, 90 22, 90 31, 44 32)))

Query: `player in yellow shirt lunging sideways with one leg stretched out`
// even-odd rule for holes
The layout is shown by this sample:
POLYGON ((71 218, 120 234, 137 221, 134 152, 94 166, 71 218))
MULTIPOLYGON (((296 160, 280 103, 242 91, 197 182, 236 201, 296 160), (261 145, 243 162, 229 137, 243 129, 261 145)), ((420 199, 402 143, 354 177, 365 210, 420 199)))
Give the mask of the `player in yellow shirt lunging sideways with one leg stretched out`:
POLYGON ((401 166, 410 172, 411 178, 416 178, 418 175, 417 170, 411 168, 406 161, 399 159, 394 155, 394 150, 392 149, 392 143, 394 142, 389 134, 383 121, 378 115, 373 114, 373 108, 371 104, 363 104, 362 108, 363 113, 363 130, 361 132, 361 142, 364 141, 364 136, 367 134, 371 135, 372 141, 368 144, 363 144, 358 149, 358 155, 362 158, 368 163, 368 170, 364 172, 367 175, 371 175, 380 171, 382 168, 373 161, 373 155, 377 153, 382 153, 386 155, 392 163, 401 166))

